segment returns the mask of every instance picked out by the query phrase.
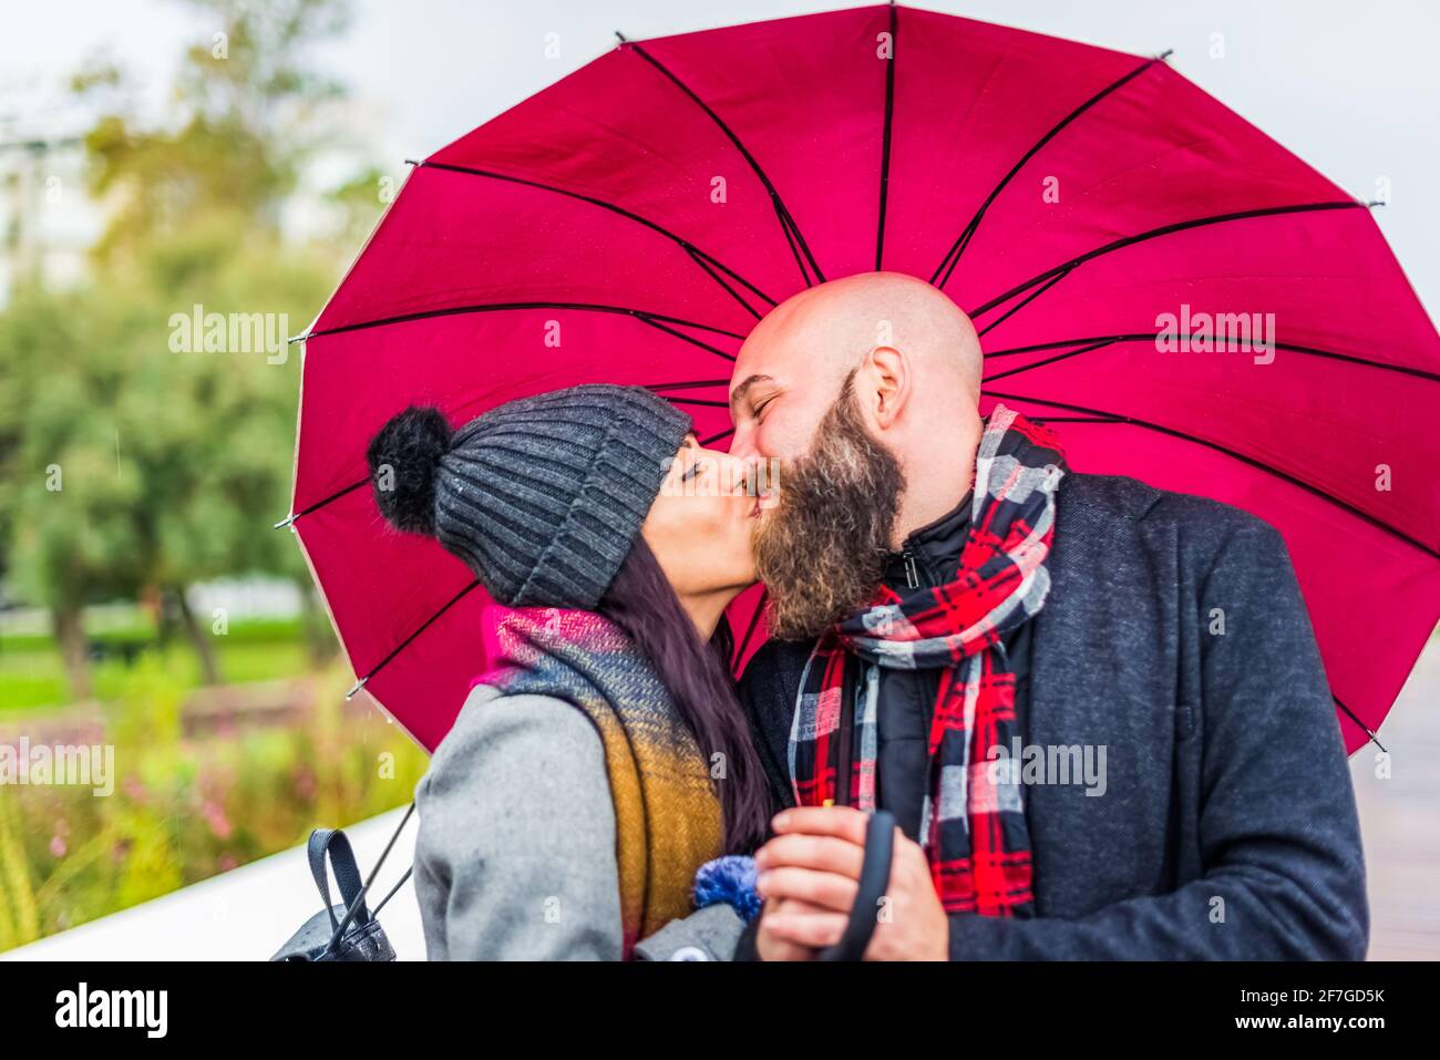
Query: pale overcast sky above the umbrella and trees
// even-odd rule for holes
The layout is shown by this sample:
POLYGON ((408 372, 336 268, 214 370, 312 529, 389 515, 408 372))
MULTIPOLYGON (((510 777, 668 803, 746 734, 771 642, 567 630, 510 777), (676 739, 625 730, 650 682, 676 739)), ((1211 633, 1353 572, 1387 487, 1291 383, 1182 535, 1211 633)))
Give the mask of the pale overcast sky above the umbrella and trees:
MULTIPOLYGON (((356 0, 351 30, 317 60, 350 82, 374 156, 397 174, 543 85, 631 39, 815 10, 816 0, 356 0), (560 58, 544 56, 557 33, 560 58)), ((917 4, 1171 63, 1359 199, 1387 177, 1377 219, 1420 297, 1440 307, 1440 3, 1433 0, 929 0, 917 4), (1212 33, 1225 56, 1210 58, 1212 33)), ((63 124, 50 109, 85 58, 141 72, 153 98, 184 45, 215 27, 176 0, 9 3, 0 134, 63 124), (13 125, 12 125, 13 128, 13 125)), ((71 130, 56 130, 71 131, 71 130)))

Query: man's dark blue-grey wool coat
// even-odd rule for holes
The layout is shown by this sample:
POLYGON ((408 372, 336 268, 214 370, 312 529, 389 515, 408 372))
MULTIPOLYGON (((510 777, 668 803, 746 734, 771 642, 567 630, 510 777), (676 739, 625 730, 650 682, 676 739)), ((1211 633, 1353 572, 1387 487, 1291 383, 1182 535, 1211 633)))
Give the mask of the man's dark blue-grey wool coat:
MULTIPOLYGON (((1104 794, 1025 786, 1038 916, 953 915, 952 958, 1364 958, 1355 796, 1280 534, 1128 478, 1071 474, 1057 504, 1025 740, 1104 746, 1104 794)), ((786 795, 805 654, 742 680, 786 795)))

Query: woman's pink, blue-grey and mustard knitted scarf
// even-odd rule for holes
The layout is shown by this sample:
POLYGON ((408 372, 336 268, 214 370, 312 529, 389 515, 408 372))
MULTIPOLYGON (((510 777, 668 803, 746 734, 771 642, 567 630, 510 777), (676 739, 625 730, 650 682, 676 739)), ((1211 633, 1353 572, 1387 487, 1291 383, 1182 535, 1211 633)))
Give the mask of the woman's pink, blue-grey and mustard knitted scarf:
POLYGON ((624 953, 691 909, 696 870, 721 853, 708 763, 634 641, 590 611, 485 611, 488 668, 475 684, 552 696, 600 735, 615 802, 624 953))

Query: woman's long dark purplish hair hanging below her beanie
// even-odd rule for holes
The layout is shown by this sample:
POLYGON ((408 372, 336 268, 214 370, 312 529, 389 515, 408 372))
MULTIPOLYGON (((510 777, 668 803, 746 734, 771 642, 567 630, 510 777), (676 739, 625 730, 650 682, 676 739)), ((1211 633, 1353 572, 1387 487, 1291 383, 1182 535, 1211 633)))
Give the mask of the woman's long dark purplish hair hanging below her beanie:
POLYGON ((596 611, 645 652, 706 762, 714 762, 716 753, 724 756, 723 773, 716 778, 724 848, 749 851, 765 838, 769 786, 730 678, 729 624, 721 618, 716 637, 704 644, 639 536, 596 611))

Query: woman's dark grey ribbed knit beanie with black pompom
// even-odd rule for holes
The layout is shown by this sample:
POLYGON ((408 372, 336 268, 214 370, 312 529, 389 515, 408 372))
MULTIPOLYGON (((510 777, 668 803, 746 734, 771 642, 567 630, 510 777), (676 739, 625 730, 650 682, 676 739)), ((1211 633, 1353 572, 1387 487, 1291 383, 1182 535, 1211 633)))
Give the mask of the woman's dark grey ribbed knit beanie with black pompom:
POLYGON ((521 398, 458 431, 409 408, 370 442, 392 526, 438 537, 507 606, 593 608, 639 534, 690 416, 639 386, 521 398))

